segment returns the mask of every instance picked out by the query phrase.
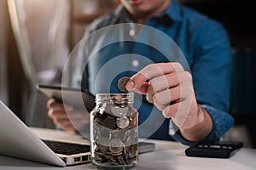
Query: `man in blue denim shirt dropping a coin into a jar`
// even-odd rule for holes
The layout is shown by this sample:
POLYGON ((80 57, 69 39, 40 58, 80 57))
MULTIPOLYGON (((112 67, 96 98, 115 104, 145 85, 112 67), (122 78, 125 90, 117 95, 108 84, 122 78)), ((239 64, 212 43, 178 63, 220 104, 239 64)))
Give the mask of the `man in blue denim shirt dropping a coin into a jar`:
MULTIPOLYGON (((89 88, 90 92, 96 94, 105 93, 104 88, 108 85, 106 82, 111 79, 110 87, 107 86, 107 88, 110 88, 110 93, 116 93, 119 92, 114 88, 116 80, 123 76, 131 77, 125 88, 137 94, 145 94, 141 99, 142 105, 138 107, 139 122, 142 124, 139 132, 143 137, 176 139, 189 145, 198 144, 201 141, 219 140, 233 124, 233 118, 226 112, 229 108, 231 56, 230 43, 223 27, 206 16, 180 6, 175 0, 120 0, 120 2, 122 5, 113 14, 96 20, 88 32, 92 33, 120 23, 137 23, 143 26, 136 25, 137 33, 130 29, 129 34, 131 37, 139 37, 144 32, 143 28, 154 27, 172 37, 182 50, 190 69, 186 68, 183 62, 179 60, 176 62, 173 58, 165 59, 165 56, 157 50, 144 47, 143 42, 132 42, 131 39, 108 44, 112 46, 112 50, 104 46, 100 52, 86 60, 84 59, 86 55, 91 56, 88 48, 90 50, 96 47, 96 43, 91 45, 90 41, 84 41, 82 45, 84 48, 79 56, 79 69, 73 82, 78 82, 79 88, 89 88), (147 65, 145 64, 147 62, 140 60, 142 57, 125 54, 139 54, 151 59, 154 64, 147 65), (140 68, 140 70, 132 70, 129 67, 132 71, 124 71, 117 77, 106 78, 106 75, 102 74, 104 71, 101 71, 104 70, 106 63, 112 62, 115 56, 123 55, 126 57, 119 61, 121 67, 125 67, 123 60, 131 58, 137 62, 127 60, 126 65, 127 63, 132 65, 131 67, 139 65, 137 69, 140 68), (84 71, 81 64, 85 62, 88 62, 88 65, 85 66, 84 71), (82 77, 82 79, 76 77, 82 77), (158 111, 154 110, 153 106, 158 111), (150 119, 149 113, 153 118, 150 119), (161 119, 161 116, 164 119, 161 119), (159 123, 161 124, 158 126, 159 123)), ((123 33, 126 29, 125 25, 124 29, 118 29, 118 31, 123 33)), ((108 34, 111 35, 114 32, 111 27, 108 34)), ((103 36, 103 34, 100 35, 103 36)), ((100 42, 101 37, 87 40, 100 42)), ((143 36, 145 39, 148 37, 154 37, 154 35, 143 36)), ((108 38, 102 39, 104 43, 108 38)), ((124 39, 121 38, 121 40, 124 39)), ((163 47, 170 46, 169 42, 158 41, 163 47)), ((105 74, 116 71, 119 65, 112 64, 112 69, 105 71, 105 74)), ((62 105, 53 100, 50 100, 48 105, 49 116, 56 124, 67 130, 75 129, 68 117, 61 113, 64 111, 62 105)))

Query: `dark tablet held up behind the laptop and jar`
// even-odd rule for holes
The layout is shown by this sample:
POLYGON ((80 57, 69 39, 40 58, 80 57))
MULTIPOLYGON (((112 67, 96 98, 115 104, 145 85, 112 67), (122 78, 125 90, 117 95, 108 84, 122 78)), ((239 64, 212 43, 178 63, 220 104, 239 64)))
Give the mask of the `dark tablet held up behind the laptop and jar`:
POLYGON ((49 98, 54 98, 58 102, 72 105, 76 110, 83 110, 85 106, 87 111, 91 111, 95 107, 95 96, 84 89, 49 85, 38 85, 37 88, 49 98))

